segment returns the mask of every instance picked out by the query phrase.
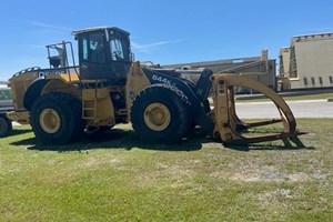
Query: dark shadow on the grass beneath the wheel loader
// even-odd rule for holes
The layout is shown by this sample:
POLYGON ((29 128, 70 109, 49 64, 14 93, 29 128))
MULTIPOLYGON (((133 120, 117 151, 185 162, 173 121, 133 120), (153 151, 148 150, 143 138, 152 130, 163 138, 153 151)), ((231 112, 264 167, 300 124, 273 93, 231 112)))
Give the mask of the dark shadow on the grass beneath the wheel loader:
MULTIPOLYGON (((26 132, 26 131, 24 131, 26 132)), ((30 130, 27 130, 30 132, 30 130)), ((22 133, 17 132, 18 134, 22 133)), ((241 152, 248 151, 259 151, 259 150, 300 150, 307 149, 314 150, 313 147, 297 145, 292 143, 284 143, 284 145, 269 143, 258 143, 250 145, 223 145, 220 140, 213 140, 206 138, 205 133, 201 130, 195 130, 192 135, 176 144, 157 144, 150 141, 140 140, 132 130, 122 129, 111 129, 108 131, 101 131, 92 135, 85 135, 79 141, 73 141, 72 143, 65 145, 52 145, 40 142, 38 139, 29 138, 21 141, 16 141, 11 143, 12 145, 24 145, 29 150, 40 150, 40 151, 85 151, 93 149, 124 149, 132 150, 147 149, 147 150, 160 150, 160 151, 195 151, 202 148, 226 148, 231 150, 236 150, 241 152)))

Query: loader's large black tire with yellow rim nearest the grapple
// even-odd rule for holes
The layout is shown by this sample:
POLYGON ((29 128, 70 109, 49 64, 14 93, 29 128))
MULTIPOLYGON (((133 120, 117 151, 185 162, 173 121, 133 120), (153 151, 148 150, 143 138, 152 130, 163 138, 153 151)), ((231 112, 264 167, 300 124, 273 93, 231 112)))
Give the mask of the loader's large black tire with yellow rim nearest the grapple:
POLYGON ((142 90, 131 108, 132 127, 139 137, 158 143, 173 143, 189 134, 192 115, 182 91, 170 85, 142 90))

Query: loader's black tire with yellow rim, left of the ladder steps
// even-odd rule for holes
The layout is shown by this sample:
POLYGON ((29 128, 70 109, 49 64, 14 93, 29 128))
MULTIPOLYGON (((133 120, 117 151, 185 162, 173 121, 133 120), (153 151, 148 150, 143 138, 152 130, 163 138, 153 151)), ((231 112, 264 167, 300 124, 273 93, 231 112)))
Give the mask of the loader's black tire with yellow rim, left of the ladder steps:
POLYGON ((49 93, 31 109, 32 130, 42 142, 65 144, 83 132, 81 104, 72 95, 49 93))

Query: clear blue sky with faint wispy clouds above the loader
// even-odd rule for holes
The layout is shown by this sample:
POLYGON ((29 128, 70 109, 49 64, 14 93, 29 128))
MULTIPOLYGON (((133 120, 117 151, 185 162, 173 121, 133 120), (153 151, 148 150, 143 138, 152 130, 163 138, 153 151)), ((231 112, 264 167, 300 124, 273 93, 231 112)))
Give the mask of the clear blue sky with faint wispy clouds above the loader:
POLYGON ((259 56, 276 59, 292 36, 333 32, 333 2, 264 0, 2 0, 0 80, 47 67, 46 44, 71 31, 115 26, 131 33, 137 60, 171 64, 259 56))

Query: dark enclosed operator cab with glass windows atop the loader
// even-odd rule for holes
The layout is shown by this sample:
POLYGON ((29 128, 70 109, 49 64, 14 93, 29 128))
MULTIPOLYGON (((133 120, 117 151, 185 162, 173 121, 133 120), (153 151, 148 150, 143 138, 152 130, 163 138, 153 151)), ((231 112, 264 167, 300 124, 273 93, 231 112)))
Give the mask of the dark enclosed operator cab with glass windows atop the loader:
POLYGON ((79 43, 82 80, 107 80, 109 85, 124 85, 132 64, 130 33, 119 28, 90 28, 73 31, 79 43))

